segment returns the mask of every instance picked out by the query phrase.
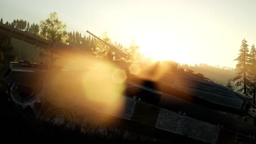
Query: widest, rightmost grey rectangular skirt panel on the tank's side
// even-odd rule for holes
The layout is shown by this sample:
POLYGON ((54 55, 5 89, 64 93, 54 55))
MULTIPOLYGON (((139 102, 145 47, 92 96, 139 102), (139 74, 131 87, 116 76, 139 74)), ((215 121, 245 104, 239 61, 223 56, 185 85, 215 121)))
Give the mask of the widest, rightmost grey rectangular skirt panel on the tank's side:
POLYGON ((216 143, 219 135, 219 127, 194 118, 182 117, 177 134, 208 143, 216 143))

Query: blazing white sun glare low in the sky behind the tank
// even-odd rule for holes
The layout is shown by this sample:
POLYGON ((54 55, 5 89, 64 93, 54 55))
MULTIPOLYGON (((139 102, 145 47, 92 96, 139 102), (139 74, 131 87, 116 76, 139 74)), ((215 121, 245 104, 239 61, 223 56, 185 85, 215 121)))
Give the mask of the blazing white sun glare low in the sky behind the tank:
MULTIPOLYGON (((193 55, 188 55, 188 46, 181 44, 175 38, 175 35, 169 34, 153 34, 161 35, 159 39, 146 35, 138 38, 137 43, 140 46, 141 53, 147 57, 152 57, 154 61, 171 60, 177 63, 196 63, 193 55), (168 39, 167 39, 168 38, 168 39)), ((190 53, 192 54, 192 53, 190 53)))

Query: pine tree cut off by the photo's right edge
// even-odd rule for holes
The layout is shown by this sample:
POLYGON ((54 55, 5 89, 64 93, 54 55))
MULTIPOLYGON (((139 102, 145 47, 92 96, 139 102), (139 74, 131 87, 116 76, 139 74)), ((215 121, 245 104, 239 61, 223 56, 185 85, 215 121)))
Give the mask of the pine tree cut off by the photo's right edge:
POLYGON ((251 81, 251 93, 253 94, 253 104, 255 104, 255 92, 256 92, 256 49, 252 45, 249 52, 249 79, 251 81))

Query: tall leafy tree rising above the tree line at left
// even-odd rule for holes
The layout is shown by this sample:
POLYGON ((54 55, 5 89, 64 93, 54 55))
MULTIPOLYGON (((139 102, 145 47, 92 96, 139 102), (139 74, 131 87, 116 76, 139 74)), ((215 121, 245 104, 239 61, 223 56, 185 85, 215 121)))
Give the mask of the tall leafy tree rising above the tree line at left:
POLYGON ((66 24, 62 23, 57 17, 57 13, 51 13, 46 20, 41 20, 40 24, 40 36, 50 41, 60 41, 62 43, 68 42, 68 35, 63 35, 63 31, 66 29, 66 24))

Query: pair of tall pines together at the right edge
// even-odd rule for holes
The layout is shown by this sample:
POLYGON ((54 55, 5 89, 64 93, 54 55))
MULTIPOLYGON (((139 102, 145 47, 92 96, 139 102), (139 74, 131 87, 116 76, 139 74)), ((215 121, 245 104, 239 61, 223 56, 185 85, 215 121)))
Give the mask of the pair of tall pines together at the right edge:
POLYGON ((247 41, 243 39, 238 57, 234 60, 237 61, 236 76, 228 80, 227 87, 248 97, 253 97, 253 104, 255 104, 256 49, 254 45, 251 45, 251 49, 248 46, 247 41), (231 82, 234 82, 234 87, 231 82))

